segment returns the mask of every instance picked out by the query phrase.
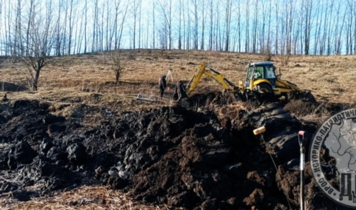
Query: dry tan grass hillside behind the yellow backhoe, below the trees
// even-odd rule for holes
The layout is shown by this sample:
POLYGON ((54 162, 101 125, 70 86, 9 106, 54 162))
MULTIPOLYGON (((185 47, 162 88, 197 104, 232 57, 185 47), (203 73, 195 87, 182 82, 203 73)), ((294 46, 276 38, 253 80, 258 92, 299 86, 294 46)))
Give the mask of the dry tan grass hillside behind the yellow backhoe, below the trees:
MULTIPOLYGON (((40 75, 37 92, 8 93, 10 99, 38 98, 66 103, 102 104, 119 110, 131 110, 137 94, 158 95, 157 80, 172 67, 174 82, 181 79, 187 83, 201 62, 224 74, 238 84, 244 80, 245 66, 249 62, 263 61, 261 54, 210 52, 210 51, 163 51, 124 50, 122 59, 125 72, 121 83, 116 85, 114 73, 106 59, 108 52, 80 54, 54 58, 40 75)), ((312 90, 318 101, 353 104, 356 56, 291 56, 285 66, 281 57, 272 56, 282 78, 312 90)), ((27 85, 19 69, 21 64, 4 62, 0 66, 1 81, 27 85)), ((26 69, 25 69, 26 70, 26 69)), ((171 89, 174 83, 169 81, 171 89)), ((1 87, 0 87, 1 88, 1 87)), ((220 90, 214 81, 205 80, 195 93, 220 90)), ((167 98, 173 91, 168 91, 167 98)), ((0 93, 3 94, 3 93, 0 93)))

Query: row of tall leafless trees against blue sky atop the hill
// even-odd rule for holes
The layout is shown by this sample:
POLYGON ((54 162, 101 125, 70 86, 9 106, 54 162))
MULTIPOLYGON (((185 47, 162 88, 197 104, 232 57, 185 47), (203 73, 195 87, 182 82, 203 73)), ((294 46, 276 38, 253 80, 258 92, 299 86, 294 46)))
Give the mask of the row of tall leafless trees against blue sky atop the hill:
POLYGON ((0 22, 2 56, 33 55, 36 28, 47 33, 48 56, 119 48, 356 53, 356 0, 0 0, 0 22))

